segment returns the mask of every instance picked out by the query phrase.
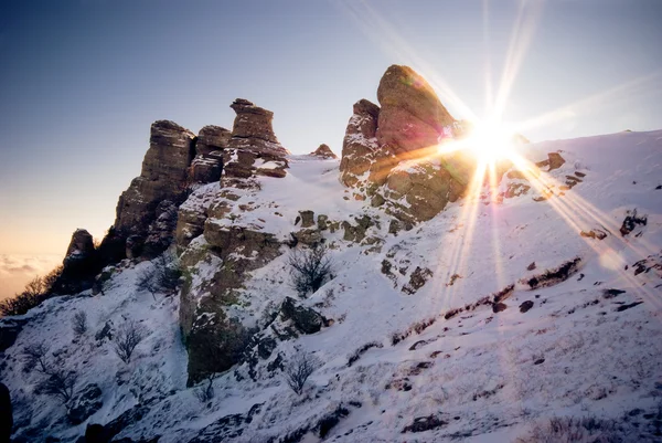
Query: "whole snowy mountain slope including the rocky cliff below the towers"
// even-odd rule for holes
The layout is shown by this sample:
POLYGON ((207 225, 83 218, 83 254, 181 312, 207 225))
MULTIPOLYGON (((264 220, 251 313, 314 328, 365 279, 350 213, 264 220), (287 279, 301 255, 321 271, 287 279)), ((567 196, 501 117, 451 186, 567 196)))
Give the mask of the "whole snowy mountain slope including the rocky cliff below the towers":
POLYGON ((519 145, 534 173, 465 183, 423 218, 396 176, 447 168, 434 155, 374 180, 373 159, 345 187, 342 160, 259 140, 278 149, 237 137, 233 175, 179 207, 178 293, 138 284, 160 257, 126 259, 96 295, 4 320, 21 328, 1 366, 15 441, 102 423, 125 442, 494 442, 555 416, 660 441, 662 130, 519 145), (302 297, 291 260, 312 247, 332 271, 302 297), (114 345, 136 325, 125 362, 114 345), (25 362, 40 346, 47 373, 25 362), (284 372, 301 356, 316 370, 298 394, 284 372), (66 408, 43 394, 55 368, 77 375, 66 408))

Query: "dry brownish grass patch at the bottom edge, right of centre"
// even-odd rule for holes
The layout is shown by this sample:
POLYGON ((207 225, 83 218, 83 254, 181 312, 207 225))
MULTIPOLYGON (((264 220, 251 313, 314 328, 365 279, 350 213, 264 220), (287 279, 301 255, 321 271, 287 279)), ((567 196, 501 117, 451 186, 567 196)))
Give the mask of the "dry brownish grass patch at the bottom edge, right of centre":
POLYGON ((612 443, 628 441, 613 420, 553 416, 534 425, 516 443, 612 443))

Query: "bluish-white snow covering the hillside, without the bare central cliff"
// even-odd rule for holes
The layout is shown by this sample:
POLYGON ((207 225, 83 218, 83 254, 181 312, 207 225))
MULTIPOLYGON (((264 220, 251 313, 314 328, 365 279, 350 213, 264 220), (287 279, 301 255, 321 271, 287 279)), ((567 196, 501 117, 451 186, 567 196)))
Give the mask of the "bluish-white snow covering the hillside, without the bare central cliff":
MULTIPOLYGON (((22 399, 14 407, 19 434, 32 428, 31 441, 49 433, 75 441, 86 423, 107 423, 139 404, 131 390, 147 386, 150 393, 140 400, 148 408, 116 439, 316 442, 322 423, 324 439, 334 442, 508 442, 545 418, 595 415, 622 423, 627 441, 655 441, 648 414, 662 402, 662 130, 522 148, 532 161, 551 151, 566 162, 541 172, 545 191, 532 186, 501 199, 484 187, 396 234, 388 233, 388 215, 338 182, 337 160, 291 157, 286 178, 260 178, 259 190, 237 191, 236 207, 253 210, 237 211, 232 222, 282 241, 301 210, 352 223, 367 214, 376 222, 367 231, 374 240, 362 244, 344 241, 341 230, 324 233, 334 278, 302 303, 332 325, 279 341, 258 365, 257 381, 247 363, 220 375, 214 398, 201 402, 185 387, 177 296, 154 300, 136 289, 151 264, 127 265, 105 295, 51 299, 28 314, 2 369, 12 398, 22 399), (572 189, 562 188, 567 176, 572 189), (554 196, 541 199, 549 190, 554 196), (634 209, 647 223, 622 236, 634 209), (607 235, 580 235, 591 230, 607 235), (577 257, 569 277, 538 285, 547 271, 577 257), (505 305, 499 313, 495 296, 505 305), (524 303, 530 309, 523 313, 524 303), (89 331, 74 340, 76 310, 87 313, 89 331), (107 320, 125 319, 150 331, 129 365, 108 340, 94 337, 107 320), (34 393, 40 376, 23 367, 21 355, 38 340, 62 350, 58 363, 77 371, 77 387, 94 382, 104 392, 103 408, 83 424, 68 425, 64 407, 34 393), (297 395, 279 371, 266 368, 303 352, 320 367, 297 395), (349 365, 351 357, 357 358, 349 365)), ((500 190, 517 182, 526 183, 504 178, 500 190)), ((185 204, 209 204, 217 191, 203 187, 185 204)), ((253 304, 239 310, 259 313, 295 296, 286 246, 282 252, 252 273, 246 293, 253 304)))

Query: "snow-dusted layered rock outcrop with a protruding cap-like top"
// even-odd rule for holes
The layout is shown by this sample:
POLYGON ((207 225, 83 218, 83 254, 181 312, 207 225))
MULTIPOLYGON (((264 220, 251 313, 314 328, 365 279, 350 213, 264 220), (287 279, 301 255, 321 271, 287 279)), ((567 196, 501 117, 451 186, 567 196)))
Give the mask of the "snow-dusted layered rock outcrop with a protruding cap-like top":
POLYGON ((231 107, 237 116, 223 156, 223 184, 242 186, 243 179, 254 176, 285 177, 285 156, 289 152, 274 134, 274 113, 244 98, 237 98, 231 107))

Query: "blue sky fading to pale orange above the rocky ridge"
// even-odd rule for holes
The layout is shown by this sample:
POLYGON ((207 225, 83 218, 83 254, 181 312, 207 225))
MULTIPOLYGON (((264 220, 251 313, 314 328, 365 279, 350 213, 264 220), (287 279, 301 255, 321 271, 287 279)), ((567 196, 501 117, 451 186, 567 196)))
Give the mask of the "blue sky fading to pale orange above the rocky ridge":
POLYGON ((0 298, 103 238, 149 127, 232 128, 237 97, 293 154, 340 154, 391 64, 456 118, 532 141, 662 127, 659 0, 3 0, 0 298))

